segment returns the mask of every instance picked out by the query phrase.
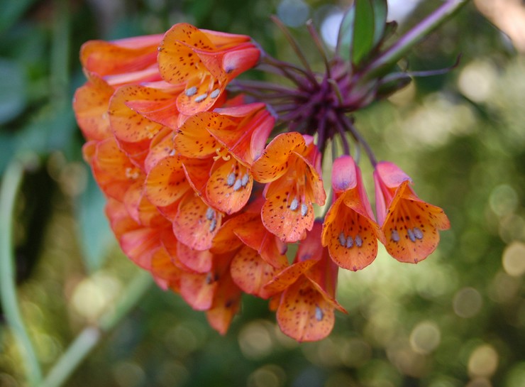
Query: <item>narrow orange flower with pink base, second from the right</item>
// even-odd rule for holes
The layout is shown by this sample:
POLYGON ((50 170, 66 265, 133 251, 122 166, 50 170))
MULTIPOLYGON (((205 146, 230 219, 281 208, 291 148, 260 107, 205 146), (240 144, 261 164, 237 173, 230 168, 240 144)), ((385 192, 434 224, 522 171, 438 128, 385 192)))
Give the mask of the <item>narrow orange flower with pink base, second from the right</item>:
POLYGON ((338 266, 357 271, 377 255, 377 238, 383 239, 363 186, 361 171, 350 156, 341 156, 332 167, 336 201, 328 210, 321 236, 338 266))

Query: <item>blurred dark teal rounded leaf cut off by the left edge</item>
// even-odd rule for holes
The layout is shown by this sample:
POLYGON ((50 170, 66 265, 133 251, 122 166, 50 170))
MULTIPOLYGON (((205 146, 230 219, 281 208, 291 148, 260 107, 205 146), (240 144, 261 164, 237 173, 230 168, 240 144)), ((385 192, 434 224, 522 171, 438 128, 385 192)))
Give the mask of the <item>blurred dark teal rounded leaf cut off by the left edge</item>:
POLYGON ((0 60, 0 85, 0 124, 5 124, 26 107, 26 77, 13 60, 0 60))

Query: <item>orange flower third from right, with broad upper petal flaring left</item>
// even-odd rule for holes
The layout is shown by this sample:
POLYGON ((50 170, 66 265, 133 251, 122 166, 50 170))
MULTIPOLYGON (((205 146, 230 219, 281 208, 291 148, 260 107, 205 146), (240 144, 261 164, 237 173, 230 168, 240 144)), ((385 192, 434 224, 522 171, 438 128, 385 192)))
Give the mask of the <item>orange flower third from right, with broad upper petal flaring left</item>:
POLYGON ((314 225, 312 203, 324 205, 320 153, 311 136, 282 133, 252 165, 258 182, 267 182, 262 222, 282 241, 304 239, 314 225))

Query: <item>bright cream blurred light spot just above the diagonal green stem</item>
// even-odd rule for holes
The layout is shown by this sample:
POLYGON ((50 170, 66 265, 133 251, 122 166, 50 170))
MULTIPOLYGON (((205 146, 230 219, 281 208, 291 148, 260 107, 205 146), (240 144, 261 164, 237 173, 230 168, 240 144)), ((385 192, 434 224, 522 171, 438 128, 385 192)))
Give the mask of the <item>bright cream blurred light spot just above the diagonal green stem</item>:
POLYGON ((95 273, 84 278, 73 290, 74 310, 89 320, 95 319, 106 310, 121 291, 120 281, 106 273, 95 273))

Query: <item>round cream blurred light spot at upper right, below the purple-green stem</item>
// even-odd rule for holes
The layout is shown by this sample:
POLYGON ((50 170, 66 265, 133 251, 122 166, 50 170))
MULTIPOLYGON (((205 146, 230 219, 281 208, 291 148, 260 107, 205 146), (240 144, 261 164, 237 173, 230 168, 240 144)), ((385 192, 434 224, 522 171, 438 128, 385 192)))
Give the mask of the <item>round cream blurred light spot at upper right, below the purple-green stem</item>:
POLYGON ((458 77, 458 88, 474 102, 489 99, 496 85, 497 71, 487 60, 474 60, 461 70, 458 77))

